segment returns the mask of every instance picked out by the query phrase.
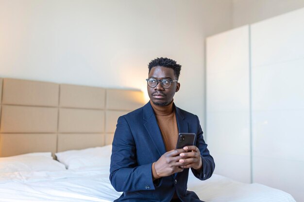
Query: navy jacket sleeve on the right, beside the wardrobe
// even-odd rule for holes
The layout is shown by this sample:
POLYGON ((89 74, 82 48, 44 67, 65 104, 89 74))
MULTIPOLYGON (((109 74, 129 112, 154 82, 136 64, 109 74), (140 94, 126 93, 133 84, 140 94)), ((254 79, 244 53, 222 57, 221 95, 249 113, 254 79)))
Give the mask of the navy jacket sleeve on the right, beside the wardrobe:
POLYGON ((203 168, 200 171, 194 170, 191 168, 194 176, 200 180, 206 180, 211 177, 214 169, 215 163, 213 157, 210 155, 209 150, 207 149, 207 144, 203 140, 203 130, 199 121, 199 118, 196 116, 198 122, 198 133, 196 146, 199 148, 201 152, 201 158, 203 162, 203 168))

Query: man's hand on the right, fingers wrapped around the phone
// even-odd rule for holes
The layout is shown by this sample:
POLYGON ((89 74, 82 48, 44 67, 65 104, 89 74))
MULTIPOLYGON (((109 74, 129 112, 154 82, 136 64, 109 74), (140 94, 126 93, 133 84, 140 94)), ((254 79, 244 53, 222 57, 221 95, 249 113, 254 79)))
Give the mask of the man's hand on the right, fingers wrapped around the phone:
POLYGON ((201 158, 201 153, 199 148, 196 146, 185 146, 183 148, 185 151, 190 152, 183 152, 180 154, 182 159, 179 160, 180 163, 183 163, 183 166, 180 166, 183 169, 186 168, 194 168, 195 170, 202 169, 203 162, 201 158))

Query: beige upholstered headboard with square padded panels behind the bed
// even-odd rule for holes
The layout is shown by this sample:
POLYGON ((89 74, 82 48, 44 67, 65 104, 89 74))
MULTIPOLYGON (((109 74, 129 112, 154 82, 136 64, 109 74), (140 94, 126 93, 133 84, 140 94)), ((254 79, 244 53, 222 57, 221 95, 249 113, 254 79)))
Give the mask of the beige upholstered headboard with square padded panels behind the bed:
POLYGON ((141 91, 0 78, 0 156, 111 144, 141 91))

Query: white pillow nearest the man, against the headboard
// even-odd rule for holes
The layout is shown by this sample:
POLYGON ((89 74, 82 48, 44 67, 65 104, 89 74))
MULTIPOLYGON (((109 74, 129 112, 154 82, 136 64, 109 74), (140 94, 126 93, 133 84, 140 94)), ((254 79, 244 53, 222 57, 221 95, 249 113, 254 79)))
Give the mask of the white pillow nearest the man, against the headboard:
POLYGON ((110 166, 112 145, 55 153, 67 169, 110 166))

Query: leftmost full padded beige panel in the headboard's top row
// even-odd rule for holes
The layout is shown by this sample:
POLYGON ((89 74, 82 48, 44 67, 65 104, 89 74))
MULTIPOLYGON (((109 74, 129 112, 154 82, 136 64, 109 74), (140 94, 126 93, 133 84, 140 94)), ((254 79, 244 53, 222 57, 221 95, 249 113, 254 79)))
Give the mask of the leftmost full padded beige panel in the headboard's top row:
POLYGON ((59 84, 22 79, 3 79, 3 104, 57 106, 59 84))

